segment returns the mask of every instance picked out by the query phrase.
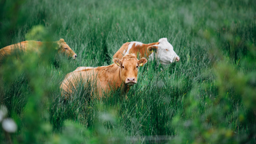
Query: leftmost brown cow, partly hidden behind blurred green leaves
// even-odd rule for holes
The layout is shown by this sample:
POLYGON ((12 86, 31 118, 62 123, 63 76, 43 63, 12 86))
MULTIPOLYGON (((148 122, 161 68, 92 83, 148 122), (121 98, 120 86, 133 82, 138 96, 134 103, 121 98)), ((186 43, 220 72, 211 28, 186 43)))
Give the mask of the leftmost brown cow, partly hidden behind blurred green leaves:
POLYGON ((18 44, 9 45, 7 47, 4 47, 3 49, 0 49, 0 61, 2 61, 8 55, 14 53, 15 50, 21 52, 26 52, 27 50, 40 51, 40 47, 46 43, 48 45, 56 44, 56 49, 58 50, 58 53, 66 54, 68 57, 72 57, 73 59, 76 59, 77 57, 76 53, 73 52, 73 50, 69 47, 69 45, 67 45, 66 42, 64 42, 64 39, 59 39, 59 41, 54 42, 23 41, 18 44))

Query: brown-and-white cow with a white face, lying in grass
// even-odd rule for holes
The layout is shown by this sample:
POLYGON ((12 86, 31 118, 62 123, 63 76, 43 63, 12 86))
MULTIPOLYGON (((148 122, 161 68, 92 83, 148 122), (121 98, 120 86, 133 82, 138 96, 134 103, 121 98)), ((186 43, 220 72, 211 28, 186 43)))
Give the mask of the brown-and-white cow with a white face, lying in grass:
POLYGON ((161 38, 158 42, 151 44, 143 44, 137 41, 126 42, 114 54, 113 58, 121 59, 127 53, 135 53, 140 57, 148 58, 149 61, 157 58, 162 65, 180 61, 180 57, 174 52, 173 47, 167 41, 167 38, 161 38))

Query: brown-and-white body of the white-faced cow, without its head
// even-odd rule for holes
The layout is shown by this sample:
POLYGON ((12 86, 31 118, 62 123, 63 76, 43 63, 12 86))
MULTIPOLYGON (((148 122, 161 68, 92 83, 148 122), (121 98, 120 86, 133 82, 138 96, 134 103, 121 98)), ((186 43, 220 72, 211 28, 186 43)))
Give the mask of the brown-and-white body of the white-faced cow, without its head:
MULTIPOLYGON (((122 59, 122 57, 125 55, 125 53, 123 53, 124 51, 126 52, 128 50, 128 46, 131 42, 126 42, 122 45, 122 47, 120 47, 120 49, 114 54, 113 58, 119 58, 122 59)), ((139 55, 140 58, 144 57, 144 58, 148 58, 148 56, 151 54, 151 52, 149 52, 148 49, 150 49, 150 47, 152 45, 157 45, 159 44, 159 42, 154 42, 151 44, 142 44, 142 45, 136 45, 133 44, 133 46, 131 47, 131 49, 129 50, 129 53, 135 53, 136 57, 139 55)), ((156 47, 157 49, 157 47, 156 47)))

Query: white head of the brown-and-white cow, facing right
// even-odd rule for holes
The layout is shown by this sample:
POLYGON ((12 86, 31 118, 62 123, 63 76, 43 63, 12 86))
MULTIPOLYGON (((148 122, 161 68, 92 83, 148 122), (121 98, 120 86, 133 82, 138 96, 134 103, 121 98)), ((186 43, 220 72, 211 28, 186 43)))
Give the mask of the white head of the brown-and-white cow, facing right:
POLYGON ((147 49, 149 52, 152 52, 149 56, 149 61, 152 61, 154 57, 158 58, 163 65, 180 61, 180 57, 174 52, 173 47, 167 41, 167 38, 159 39, 156 45, 150 45, 147 49))

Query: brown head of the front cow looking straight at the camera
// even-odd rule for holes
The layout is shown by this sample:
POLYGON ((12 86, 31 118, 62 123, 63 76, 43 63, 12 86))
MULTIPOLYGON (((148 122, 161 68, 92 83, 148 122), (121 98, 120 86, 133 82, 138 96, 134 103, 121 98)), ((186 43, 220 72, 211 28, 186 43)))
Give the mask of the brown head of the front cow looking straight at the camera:
POLYGON ((113 59, 113 62, 120 67, 120 78, 126 85, 132 86, 137 83, 138 67, 142 67, 148 61, 145 58, 137 59, 134 54, 127 54, 120 60, 113 59))

